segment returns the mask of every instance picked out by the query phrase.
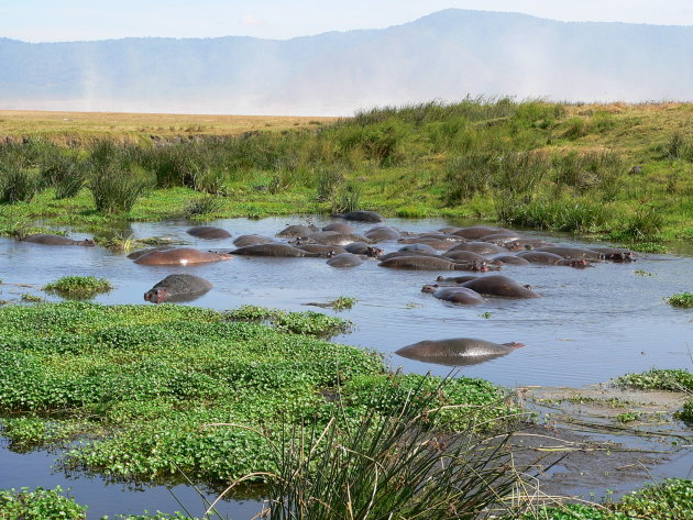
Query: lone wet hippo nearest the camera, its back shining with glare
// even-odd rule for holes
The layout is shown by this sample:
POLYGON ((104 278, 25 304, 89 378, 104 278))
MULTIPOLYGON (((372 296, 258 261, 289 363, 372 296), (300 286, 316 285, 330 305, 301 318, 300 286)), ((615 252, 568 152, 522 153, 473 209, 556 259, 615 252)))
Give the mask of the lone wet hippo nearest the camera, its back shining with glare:
POLYGON ((439 365, 474 365, 484 361, 509 354, 520 348, 522 343, 492 343, 472 338, 451 340, 420 341, 396 351, 397 355, 409 359, 439 365))

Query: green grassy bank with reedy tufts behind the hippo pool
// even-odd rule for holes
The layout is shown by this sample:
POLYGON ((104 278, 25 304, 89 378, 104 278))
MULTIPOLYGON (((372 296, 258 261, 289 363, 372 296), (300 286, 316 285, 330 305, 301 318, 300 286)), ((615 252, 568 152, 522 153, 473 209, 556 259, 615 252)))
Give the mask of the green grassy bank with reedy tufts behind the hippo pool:
POLYGON ((82 140, 75 130, 67 146, 14 130, 26 139, 0 147, 0 230, 364 208, 690 240, 692 119, 691 103, 481 99, 191 140, 148 128, 136 140, 118 128, 82 140))

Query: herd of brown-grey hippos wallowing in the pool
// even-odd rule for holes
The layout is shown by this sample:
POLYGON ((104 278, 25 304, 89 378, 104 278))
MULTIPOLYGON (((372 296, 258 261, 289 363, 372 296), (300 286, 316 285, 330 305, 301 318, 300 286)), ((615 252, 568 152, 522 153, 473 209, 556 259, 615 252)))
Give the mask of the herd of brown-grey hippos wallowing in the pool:
MULTIPOLYGON (((140 265, 194 265, 229 259, 232 255, 273 257, 324 257, 336 268, 355 267, 369 258, 378 266, 415 270, 465 270, 487 273, 510 265, 554 265, 585 268, 595 262, 634 262, 635 254, 615 247, 562 247, 538 239, 522 237, 504 228, 473 225, 443 228, 427 233, 409 233, 387 225, 375 225, 363 235, 356 234, 345 221, 380 224, 383 218, 373 211, 352 211, 334 214, 341 219, 321 230, 315 225, 289 225, 277 237, 246 234, 238 236, 233 251, 200 251, 193 247, 155 247, 128 255, 140 265), (380 242, 396 241, 399 250, 387 253, 375 246, 380 242)), ((199 225, 187 233, 204 240, 231 237, 221 228, 199 225)), ((66 236, 34 234, 22 239, 46 245, 92 246, 91 240, 76 241, 66 236)), ((538 298, 529 286, 502 275, 438 276, 436 284, 425 285, 424 292, 460 306, 484 302, 484 297, 538 298)), ((212 285, 189 274, 169 275, 144 294, 145 301, 190 301, 205 295, 212 285)), ((484 340, 459 338, 422 341, 405 346, 397 354, 413 359, 443 365, 470 365, 498 357, 521 343, 492 343, 484 340)))

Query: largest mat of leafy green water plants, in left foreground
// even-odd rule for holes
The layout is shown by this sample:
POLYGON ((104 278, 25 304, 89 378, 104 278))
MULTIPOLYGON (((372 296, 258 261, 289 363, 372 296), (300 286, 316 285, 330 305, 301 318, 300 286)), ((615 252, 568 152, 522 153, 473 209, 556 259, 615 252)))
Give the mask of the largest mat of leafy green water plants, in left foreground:
POLYGON ((65 447, 66 471, 215 484, 276 472, 268 439, 326 428, 337 395, 342 429, 388 417, 420 388, 452 407, 436 419, 441 432, 499 428, 519 411, 487 381, 462 377, 437 392, 436 378, 391 375, 373 352, 288 332, 317 332, 315 314, 286 313, 277 329, 174 305, 0 308, 3 435, 13 450, 65 447))

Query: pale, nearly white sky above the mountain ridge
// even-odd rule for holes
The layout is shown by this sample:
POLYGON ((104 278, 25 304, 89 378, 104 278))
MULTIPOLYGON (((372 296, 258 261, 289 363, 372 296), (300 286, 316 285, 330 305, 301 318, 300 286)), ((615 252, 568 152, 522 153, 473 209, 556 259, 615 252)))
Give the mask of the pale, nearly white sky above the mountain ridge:
POLYGON ((693 0, 0 0, 0 37, 25 42, 128 36, 286 40, 381 29, 448 8, 562 21, 693 25, 693 0))

